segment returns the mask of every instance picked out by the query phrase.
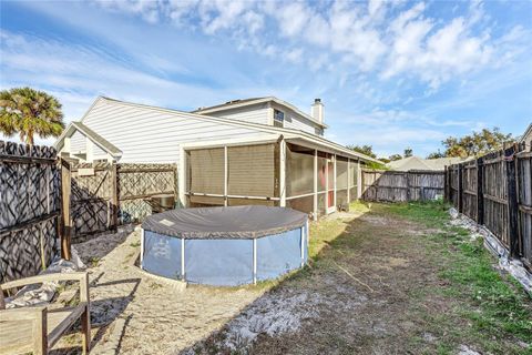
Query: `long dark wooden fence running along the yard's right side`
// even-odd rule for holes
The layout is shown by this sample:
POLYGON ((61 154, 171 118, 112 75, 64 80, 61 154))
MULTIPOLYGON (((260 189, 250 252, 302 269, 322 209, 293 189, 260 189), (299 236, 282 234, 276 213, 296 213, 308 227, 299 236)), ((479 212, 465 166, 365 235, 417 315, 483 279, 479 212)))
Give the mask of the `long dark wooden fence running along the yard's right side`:
POLYGON ((532 270, 532 152, 524 145, 449 166, 446 200, 532 270))

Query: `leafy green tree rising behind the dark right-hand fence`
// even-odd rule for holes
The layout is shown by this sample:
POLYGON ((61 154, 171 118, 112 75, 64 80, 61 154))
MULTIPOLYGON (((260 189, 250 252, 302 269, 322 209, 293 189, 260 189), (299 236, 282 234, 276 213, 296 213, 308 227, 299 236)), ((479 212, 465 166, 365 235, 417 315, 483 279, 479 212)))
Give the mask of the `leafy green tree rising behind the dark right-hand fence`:
POLYGON ((512 142, 512 134, 504 134, 498 128, 483 129, 460 139, 449 136, 442 142, 446 146, 446 156, 479 156, 491 151, 504 148, 504 143, 512 142))

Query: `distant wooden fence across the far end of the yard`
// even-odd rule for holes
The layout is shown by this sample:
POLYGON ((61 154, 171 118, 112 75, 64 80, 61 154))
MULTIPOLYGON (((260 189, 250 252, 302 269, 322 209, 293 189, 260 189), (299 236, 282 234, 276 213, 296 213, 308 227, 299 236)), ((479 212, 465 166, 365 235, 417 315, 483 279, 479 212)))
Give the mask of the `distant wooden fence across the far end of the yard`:
POLYGON ((443 196, 444 172, 362 170, 362 200, 429 201, 443 196))

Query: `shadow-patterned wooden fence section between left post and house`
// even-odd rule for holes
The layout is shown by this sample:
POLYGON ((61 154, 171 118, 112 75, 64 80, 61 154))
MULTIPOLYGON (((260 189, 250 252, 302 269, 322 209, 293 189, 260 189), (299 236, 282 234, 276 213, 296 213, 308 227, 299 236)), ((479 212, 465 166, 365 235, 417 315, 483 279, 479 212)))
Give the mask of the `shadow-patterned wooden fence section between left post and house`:
POLYGON ((75 240, 142 221, 149 199, 176 195, 176 165, 82 163, 71 166, 70 209, 75 240))

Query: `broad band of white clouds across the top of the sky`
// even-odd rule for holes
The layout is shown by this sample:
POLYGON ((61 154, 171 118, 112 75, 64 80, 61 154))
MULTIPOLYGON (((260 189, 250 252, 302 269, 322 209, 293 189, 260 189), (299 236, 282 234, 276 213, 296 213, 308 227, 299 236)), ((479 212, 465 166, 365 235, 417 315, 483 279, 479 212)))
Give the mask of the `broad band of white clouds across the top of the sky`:
MULTIPOLYGON (((523 37, 519 29, 501 38, 490 36, 492 23, 481 0, 471 1, 464 13, 451 19, 429 14, 433 3, 382 0, 98 2, 151 22, 166 18, 209 36, 228 34, 241 49, 265 57, 285 52, 294 63, 300 62, 300 52, 290 49, 297 43, 307 47, 304 52, 317 58, 326 54, 329 64, 339 63, 352 73, 371 72, 385 81, 416 78, 428 85, 429 94, 452 79, 511 61, 522 49, 511 47, 523 37)), ((308 62, 313 70, 326 67, 319 59, 308 62)))

